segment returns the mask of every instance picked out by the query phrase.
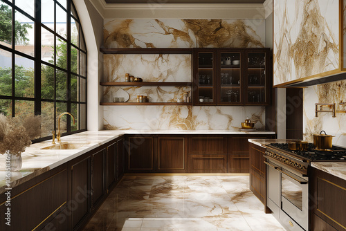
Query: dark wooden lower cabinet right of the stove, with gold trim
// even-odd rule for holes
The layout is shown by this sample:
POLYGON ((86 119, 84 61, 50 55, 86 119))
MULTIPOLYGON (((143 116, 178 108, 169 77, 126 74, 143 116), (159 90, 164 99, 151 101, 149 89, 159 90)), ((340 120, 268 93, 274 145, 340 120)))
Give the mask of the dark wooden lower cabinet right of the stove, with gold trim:
POLYGON ((309 169, 312 231, 346 230, 346 181, 314 167, 309 169))

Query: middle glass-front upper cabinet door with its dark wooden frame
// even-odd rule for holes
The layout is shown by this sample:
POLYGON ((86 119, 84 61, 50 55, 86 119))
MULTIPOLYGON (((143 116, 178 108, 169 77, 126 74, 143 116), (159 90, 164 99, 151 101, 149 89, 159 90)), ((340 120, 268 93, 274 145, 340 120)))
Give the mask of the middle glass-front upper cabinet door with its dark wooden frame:
POLYGON ((232 52, 220 50, 217 71, 217 104, 237 105, 242 99, 242 53, 234 50, 232 52))

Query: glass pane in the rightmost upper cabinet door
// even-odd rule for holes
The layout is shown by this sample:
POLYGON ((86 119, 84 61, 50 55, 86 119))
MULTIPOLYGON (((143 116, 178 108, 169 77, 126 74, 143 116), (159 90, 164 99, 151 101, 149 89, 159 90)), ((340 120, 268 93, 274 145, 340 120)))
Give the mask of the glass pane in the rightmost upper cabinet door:
POLYGON ((266 102, 266 54, 248 54, 248 102, 266 102))

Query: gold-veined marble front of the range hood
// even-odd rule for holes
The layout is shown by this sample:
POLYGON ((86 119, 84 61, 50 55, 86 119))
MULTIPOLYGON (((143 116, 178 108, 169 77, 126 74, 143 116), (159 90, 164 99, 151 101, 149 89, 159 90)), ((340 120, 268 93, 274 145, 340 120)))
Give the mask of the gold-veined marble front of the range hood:
POLYGON ((338 0, 274 0, 274 85, 340 68, 338 10, 338 0))

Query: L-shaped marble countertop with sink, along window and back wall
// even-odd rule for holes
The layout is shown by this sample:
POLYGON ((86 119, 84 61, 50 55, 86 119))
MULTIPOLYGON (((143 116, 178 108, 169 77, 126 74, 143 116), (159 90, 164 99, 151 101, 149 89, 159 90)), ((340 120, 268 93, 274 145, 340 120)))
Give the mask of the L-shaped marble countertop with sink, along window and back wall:
POLYGON ((125 134, 275 134, 272 131, 226 131, 226 130, 109 130, 109 131, 84 131, 70 136, 63 136, 62 142, 71 142, 80 145, 77 149, 42 149, 52 145, 52 140, 38 142, 26 149, 21 154, 23 165, 19 172, 11 172, 10 184, 6 185, 5 156, 0 155, 0 193, 7 187, 15 187, 21 183, 43 174, 50 169, 62 165, 87 151, 125 134))

